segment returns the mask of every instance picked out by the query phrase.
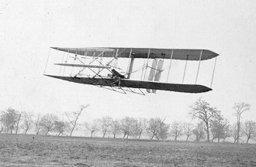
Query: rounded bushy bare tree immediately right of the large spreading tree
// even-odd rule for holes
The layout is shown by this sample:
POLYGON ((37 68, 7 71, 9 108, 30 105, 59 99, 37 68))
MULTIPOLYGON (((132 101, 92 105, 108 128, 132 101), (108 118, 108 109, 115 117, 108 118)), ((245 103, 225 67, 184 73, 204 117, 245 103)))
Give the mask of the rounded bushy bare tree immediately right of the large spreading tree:
POLYGON ((223 115, 217 114, 216 117, 210 122, 211 132, 213 135, 212 141, 217 138, 218 142, 220 142, 220 138, 227 138, 229 129, 226 118, 223 118, 223 115))

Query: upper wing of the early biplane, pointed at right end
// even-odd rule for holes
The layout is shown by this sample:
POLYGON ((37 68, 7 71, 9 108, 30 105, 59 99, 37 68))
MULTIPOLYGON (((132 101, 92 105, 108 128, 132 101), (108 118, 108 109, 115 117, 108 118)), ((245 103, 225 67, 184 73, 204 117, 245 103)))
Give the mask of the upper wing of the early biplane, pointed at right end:
POLYGON ((103 56, 103 57, 130 57, 133 53, 134 58, 146 59, 149 54, 150 59, 172 59, 174 60, 209 60, 219 56, 208 49, 155 49, 155 48, 116 48, 116 47, 99 47, 99 48, 60 48, 52 47, 68 53, 74 53, 81 56, 103 56))

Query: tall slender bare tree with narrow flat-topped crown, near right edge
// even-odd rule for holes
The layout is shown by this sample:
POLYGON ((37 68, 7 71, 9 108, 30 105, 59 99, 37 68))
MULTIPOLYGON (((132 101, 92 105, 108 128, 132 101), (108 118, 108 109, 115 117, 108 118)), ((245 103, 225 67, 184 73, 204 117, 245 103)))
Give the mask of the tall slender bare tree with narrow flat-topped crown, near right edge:
POLYGON ((244 102, 235 103, 233 109, 235 110, 234 115, 237 117, 237 143, 239 143, 241 114, 243 114, 244 111, 250 110, 250 104, 246 104, 244 102))

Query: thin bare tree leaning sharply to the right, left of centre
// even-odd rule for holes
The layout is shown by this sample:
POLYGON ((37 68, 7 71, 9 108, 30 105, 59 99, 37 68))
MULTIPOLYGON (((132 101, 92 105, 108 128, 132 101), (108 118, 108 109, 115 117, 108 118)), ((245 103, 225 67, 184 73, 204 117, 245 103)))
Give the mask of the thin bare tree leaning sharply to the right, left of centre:
POLYGON ((87 108, 89 106, 89 104, 87 105, 81 105, 80 110, 79 111, 74 111, 72 113, 65 113, 65 115, 67 116, 67 119, 69 121, 69 123, 71 124, 71 134, 72 135, 74 128, 77 126, 78 124, 78 118, 81 115, 81 112, 85 110, 85 108, 87 108))

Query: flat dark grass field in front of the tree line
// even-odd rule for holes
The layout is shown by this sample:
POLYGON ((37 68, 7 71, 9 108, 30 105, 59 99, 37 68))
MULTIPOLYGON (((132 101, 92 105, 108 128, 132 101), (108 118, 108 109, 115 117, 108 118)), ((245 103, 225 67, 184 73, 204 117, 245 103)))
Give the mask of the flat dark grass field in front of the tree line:
POLYGON ((256 145, 0 134, 0 166, 256 166, 256 145))

